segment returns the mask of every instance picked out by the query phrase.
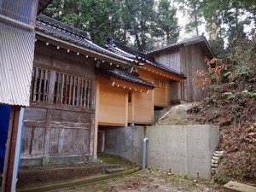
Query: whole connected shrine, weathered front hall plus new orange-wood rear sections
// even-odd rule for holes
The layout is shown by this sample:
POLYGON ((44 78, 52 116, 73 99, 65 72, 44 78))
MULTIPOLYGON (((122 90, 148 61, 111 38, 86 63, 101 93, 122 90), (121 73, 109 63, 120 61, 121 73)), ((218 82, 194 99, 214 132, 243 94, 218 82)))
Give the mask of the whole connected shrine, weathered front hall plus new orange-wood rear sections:
POLYGON ((154 58, 39 15, 30 107, 21 166, 96 157, 99 127, 152 125, 154 109, 170 103, 171 81, 185 79, 154 58))

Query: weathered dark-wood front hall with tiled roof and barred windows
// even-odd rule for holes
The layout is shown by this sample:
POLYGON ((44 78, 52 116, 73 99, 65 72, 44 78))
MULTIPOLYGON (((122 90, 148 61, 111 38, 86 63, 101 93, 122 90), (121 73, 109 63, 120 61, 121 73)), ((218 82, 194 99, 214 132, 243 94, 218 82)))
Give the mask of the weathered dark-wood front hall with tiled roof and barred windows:
POLYGON ((38 16, 21 166, 79 162, 96 156, 97 63, 137 65, 93 44, 87 32, 38 16))

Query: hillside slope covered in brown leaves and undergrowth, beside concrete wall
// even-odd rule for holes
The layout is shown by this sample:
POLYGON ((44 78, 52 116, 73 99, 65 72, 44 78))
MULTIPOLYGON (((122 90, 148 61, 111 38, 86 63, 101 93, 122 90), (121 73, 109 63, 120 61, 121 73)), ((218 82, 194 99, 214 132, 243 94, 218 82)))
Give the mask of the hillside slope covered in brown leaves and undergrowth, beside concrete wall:
POLYGON ((171 108, 159 125, 220 126, 224 158, 213 179, 256 184, 256 64, 229 67, 201 102, 171 108), (229 74, 229 75, 226 75, 229 74), (230 74, 233 75, 230 78, 230 74))

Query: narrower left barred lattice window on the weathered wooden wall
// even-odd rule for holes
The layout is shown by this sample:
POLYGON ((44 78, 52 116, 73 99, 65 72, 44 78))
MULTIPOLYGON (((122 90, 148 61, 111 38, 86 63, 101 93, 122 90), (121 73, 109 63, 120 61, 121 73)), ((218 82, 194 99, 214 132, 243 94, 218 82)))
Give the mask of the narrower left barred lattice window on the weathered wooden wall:
POLYGON ((48 102, 49 73, 47 69, 33 68, 30 101, 48 102))

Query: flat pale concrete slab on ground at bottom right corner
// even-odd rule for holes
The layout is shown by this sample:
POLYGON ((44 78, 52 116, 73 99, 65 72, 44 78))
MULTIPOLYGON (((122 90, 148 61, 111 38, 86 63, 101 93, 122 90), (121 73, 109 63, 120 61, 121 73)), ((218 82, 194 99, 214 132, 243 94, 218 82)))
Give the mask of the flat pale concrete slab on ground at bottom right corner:
POLYGON ((256 192, 256 187, 230 181, 224 185, 224 192, 256 192))

